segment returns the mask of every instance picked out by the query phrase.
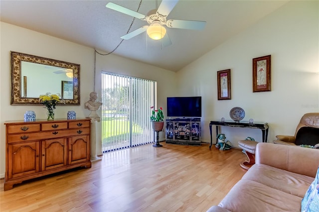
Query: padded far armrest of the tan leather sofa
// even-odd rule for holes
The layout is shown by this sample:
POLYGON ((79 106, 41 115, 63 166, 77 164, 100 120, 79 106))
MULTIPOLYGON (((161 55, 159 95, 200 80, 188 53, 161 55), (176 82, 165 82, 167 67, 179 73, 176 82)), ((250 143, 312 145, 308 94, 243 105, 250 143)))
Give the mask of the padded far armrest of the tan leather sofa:
POLYGON ((290 172, 316 177, 319 150, 300 146, 258 143, 256 164, 265 164, 290 172))

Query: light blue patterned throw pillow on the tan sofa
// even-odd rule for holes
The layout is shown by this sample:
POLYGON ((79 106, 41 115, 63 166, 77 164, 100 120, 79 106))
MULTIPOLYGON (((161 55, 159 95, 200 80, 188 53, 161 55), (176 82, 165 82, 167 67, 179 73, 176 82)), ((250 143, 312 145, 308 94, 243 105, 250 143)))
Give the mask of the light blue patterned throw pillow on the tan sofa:
POLYGON ((310 185, 301 203, 302 212, 319 210, 319 168, 314 182, 310 185))

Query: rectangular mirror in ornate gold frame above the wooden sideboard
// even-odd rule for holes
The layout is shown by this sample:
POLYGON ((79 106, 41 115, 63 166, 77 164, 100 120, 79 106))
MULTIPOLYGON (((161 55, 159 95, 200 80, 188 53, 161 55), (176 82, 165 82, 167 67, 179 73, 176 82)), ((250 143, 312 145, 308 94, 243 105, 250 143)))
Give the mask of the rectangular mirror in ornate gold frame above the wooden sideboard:
POLYGON ((41 105, 47 92, 80 105, 80 65, 11 51, 11 105, 41 105))

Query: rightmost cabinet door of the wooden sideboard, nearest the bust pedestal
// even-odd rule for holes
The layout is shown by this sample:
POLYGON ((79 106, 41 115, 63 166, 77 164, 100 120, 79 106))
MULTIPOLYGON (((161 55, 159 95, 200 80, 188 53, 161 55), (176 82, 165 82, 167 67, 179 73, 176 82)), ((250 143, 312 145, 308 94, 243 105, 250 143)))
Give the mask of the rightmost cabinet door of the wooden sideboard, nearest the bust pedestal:
POLYGON ((90 160, 89 141, 89 135, 80 135, 69 138, 69 164, 90 160))

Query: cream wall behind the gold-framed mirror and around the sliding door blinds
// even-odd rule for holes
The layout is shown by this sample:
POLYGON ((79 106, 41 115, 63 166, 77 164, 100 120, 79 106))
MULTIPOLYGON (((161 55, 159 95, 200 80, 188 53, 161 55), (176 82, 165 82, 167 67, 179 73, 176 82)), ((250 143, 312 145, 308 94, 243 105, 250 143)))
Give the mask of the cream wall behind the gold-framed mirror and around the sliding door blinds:
MULTIPOLYGON (((80 64, 80 106, 57 106, 55 114, 56 118, 66 118, 67 111, 75 110, 77 117, 80 118, 90 113, 84 108, 84 103, 90 99, 89 94, 94 90, 94 49, 4 22, 0 22, 0 45, 0 178, 3 178, 5 172, 5 125, 3 123, 7 120, 23 120, 26 110, 34 110, 37 120, 44 119, 46 113, 43 106, 10 105, 10 51, 80 64)), ((159 106, 164 106, 168 93, 175 90, 173 89, 175 88, 174 72, 116 55, 97 56, 96 70, 97 92, 101 88, 101 70, 157 81, 160 91, 158 92, 159 106)), ((43 94, 46 92, 43 91, 43 94)), ((98 93, 98 95, 101 100, 101 94, 98 93)), ((99 112, 101 115, 101 111, 99 112)), ((97 139, 101 140, 99 124, 97 134, 100 135, 97 139)), ((161 138, 163 136, 161 135, 161 138)), ((98 148, 101 149, 101 145, 98 148)))

